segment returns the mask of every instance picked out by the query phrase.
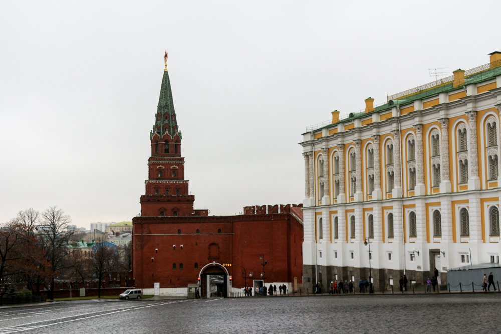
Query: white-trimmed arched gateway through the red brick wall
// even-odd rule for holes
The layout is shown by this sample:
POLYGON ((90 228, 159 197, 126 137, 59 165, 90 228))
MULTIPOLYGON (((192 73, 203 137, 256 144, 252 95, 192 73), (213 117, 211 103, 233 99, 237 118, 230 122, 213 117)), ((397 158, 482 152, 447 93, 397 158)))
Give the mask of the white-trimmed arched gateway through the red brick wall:
POLYGON ((228 297, 228 291, 231 289, 231 280, 226 268, 215 261, 206 264, 198 274, 200 282, 200 295, 202 297, 228 297))

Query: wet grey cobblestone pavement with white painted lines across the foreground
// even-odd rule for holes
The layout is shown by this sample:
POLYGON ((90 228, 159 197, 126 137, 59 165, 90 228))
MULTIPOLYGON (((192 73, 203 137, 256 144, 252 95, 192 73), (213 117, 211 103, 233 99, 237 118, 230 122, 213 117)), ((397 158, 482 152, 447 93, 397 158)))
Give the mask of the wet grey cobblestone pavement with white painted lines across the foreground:
POLYGON ((0 334, 501 331, 501 293, 61 303, 0 310, 0 334))

